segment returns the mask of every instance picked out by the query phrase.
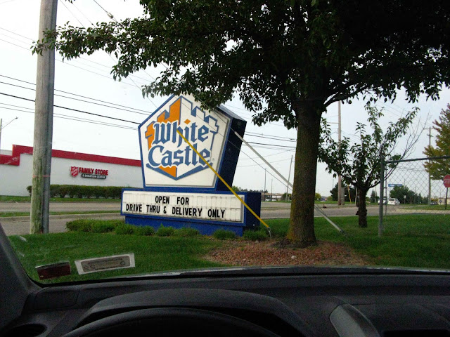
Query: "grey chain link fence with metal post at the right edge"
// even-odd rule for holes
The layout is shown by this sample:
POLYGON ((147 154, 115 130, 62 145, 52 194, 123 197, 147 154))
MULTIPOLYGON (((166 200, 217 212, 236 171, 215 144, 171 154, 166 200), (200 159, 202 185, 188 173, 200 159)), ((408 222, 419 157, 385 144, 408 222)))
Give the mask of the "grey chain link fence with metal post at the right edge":
MULTIPOLYGON (((450 161, 450 157, 385 161, 382 165, 383 212, 380 210, 380 230, 392 229, 399 216, 411 225, 439 223, 442 215, 450 215, 450 195, 444 186, 444 177, 430 178, 424 164, 428 161, 450 161), (405 216, 408 215, 406 218, 405 216)), ((450 174, 450 172, 449 172, 450 174)), ((382 201, 379 201, 381 204, 382 201)))

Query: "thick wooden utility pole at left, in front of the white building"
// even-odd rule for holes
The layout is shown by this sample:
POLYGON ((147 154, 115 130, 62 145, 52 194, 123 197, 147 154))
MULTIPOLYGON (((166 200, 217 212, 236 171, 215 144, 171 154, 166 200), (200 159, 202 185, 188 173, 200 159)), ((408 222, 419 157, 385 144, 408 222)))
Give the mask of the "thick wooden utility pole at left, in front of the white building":
MULTIPOLYGON (((41 0, 39 41, 45 39, 46 30, 56 28, 57 5, 58 0, 41 0)), ((30 234, 49 232, 54 89, 55 50, 49 48, 37 54, 30 234)))

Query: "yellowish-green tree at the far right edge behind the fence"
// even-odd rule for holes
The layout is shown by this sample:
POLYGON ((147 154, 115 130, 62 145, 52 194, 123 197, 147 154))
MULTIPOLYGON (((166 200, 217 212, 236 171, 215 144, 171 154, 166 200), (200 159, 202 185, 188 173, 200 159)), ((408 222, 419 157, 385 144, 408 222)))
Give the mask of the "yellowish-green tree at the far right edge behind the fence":
MULTIPOLYGON (((437 131, 436 147, 425 147, 427 157, 450 156, 450 104, 446 110, 442 109, 439 121, 433 121, 433 129, 437 131)), ((430 173, 432 179, 442 180, 446 174, 450 174, 450 159, 435 159, 423 164, 425 170, 430 173)))

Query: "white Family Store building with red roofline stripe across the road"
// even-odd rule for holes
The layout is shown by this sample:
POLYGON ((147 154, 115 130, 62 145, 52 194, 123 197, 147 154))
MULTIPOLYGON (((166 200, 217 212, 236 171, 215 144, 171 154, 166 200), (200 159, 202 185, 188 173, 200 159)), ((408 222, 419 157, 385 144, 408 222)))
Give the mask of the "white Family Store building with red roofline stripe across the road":
MULTIPOLYGON (((27 196, 32 185, 33 148, 13 145, 0 154, 0 195, 27 196)), ((143 187, 141 161, 53 150, 52 185, 143 187)))

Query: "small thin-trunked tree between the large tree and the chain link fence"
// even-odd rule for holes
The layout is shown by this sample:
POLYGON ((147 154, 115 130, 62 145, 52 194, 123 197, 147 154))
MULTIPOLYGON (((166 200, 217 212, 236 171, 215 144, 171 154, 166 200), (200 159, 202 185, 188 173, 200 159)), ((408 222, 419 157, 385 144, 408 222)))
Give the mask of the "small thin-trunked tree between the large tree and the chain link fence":
MULTIPOLYGON (((366 125, 356 124, 356 132, 359 133, 361 143, 350 145, 349 138, 345 137, 338 143, 331 137, 331 131, 323 120, 323 133, 321 145, 319 145, 319 160, 327 164, 330 173, 340 174, 342 180, 347 184, 352 184, 358 190, 358 225, 367 227, 367 207, 366 194, 368 190, 380 183, 381 161, 399 160, 406 157, 413 145, 417 142, 421 131, 417 126, 410 133, 406 146, 400 154, 394 154, 397 141, 401 136, 409 132, 411 123, 416 116, 418 109, 408 112, 405 117, 400 118, 396 123, 390 123, 387 130, 383 132, 378 124, 378 120, 383 116, 383 110, 378 110, 370 104, 366 105, 368 123, 373 132, 366 133, 366 125)), ((418 124, 419 125, 419 124, 418 124)), ((387 164, 390 176, 396 164, 387 164)))

